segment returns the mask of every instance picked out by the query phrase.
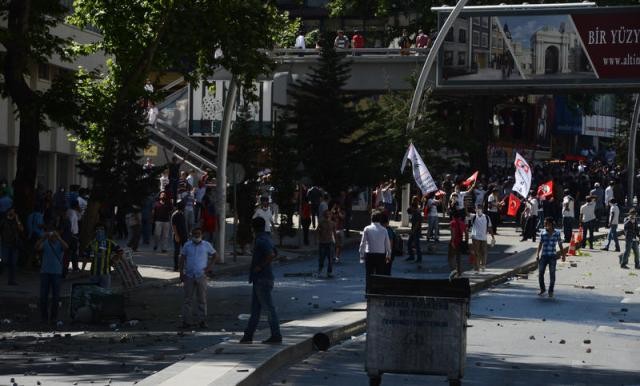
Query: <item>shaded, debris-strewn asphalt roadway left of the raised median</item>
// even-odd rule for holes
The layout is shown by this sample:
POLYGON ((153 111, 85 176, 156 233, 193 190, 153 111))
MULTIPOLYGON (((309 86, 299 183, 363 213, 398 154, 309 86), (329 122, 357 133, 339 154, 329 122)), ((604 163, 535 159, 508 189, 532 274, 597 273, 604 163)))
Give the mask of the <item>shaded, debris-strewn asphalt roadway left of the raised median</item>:
MULTIPOLYGON (((432 254, 425 255, 421 268, 398 258, 393 274, 445 276, 449 272, 445 249, 446 243, 438 244, 432 254)), ((501 258, 512 249, 497 246, 489 259, 501 258)), ((341 263, 334 266, 332 279, 318 277, 313 258, 277 263, 274 273, 273 295, 283 323, 364 300, 364 266, 355 248, 345 251, 341 263)), ((131 385, 189 353, 223 339, 238 339, 249 316, 250 300, 246 275, 226 276, 209 282, 206 330, 178 330, 180 285, 158 285, 133 294, 127 301, 127 315, 138 321, 135 325, 65 325, 55 333, 29 321, 3 326, 0 386, 12 385, 11 379, 19 385, 131 385)), ((267 328, 263 318, 259 328, 267 328)))

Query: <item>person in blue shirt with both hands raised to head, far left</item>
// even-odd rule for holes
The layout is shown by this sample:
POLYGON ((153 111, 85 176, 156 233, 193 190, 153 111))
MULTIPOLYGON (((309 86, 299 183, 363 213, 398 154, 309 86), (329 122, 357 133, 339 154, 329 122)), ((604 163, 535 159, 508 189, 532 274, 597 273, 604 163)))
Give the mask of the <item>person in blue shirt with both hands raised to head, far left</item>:
POLYGON ((40 266, 40 317, 42 323, 55 322, 58 319, 60 283, 64 251, 69 246, 60 234, 49 230, 36 243, 36 251, 41 253, 40 266), (49 293, 51 293, 51 312, 49 312, 49 293))

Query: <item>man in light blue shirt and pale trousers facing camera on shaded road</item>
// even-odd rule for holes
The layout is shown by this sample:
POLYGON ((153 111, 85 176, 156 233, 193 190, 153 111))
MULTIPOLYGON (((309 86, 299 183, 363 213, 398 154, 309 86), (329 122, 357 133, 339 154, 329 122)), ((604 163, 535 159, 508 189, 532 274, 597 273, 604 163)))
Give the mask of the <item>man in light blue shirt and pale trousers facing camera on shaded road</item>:
POLYGON ((193 228, 191 240, 182 247, 178 263, 180 281, 184 285, 182 328, 195 324, 200 328, 207 328, 207 274, 213 271, 213 264, 217 259, 213 246, 202 240, 202 230, 193 228), (197 307, 193 307, 194 296, 197 307))

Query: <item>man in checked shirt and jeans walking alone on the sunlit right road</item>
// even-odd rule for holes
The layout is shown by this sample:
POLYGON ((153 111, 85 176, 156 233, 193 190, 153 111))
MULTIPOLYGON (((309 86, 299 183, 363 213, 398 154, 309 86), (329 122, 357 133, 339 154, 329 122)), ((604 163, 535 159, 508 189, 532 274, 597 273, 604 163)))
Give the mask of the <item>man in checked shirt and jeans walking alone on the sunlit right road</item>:
POLYGON ((556 262, 558 260, 556 244, 560 248, 562 261, 565 261, 566 256, 562 248, 560 231, 553 229, 553 218, 547 217, 544 220, 544 230, 540 233, 540 244, 538 244, 538 251, 536 253, 538 283, 540 284, 539 296, 547 292, 544 284, 544 272, 547 266, 549 266, 549 297, 553 297, 553 287, 556 283, 556 262))

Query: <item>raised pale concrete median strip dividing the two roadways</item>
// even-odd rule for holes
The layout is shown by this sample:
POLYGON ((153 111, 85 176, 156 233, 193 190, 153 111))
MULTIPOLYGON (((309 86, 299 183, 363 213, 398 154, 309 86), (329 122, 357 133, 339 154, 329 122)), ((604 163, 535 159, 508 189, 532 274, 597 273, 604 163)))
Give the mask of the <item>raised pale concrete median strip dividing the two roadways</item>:
MULTIPOLYGON (((598 238, 604 236, 604 233, 600 233, 598 238)), ((535 269, 536 245, 516 245, 523 246, 524 250, 488 264, 485 272, 464 273, 463 276, 470 279, 472 292, 476 293, 506 281, 509 277, 535 269)), ((233 336, 231 340, 209 347, 159 371, 138 385, 260 385, 280 367, 312 353, 312 337, 315 334, 325 334, 335 344, 365 332, 365 320, 366 303, 362 302, 341 307, 330 314, 283 324, 282 345, 241 345, 237 343, 240 336, 233 336)), ((259 331, 255 339, 259 341, 267 335, 268 331, 259 331)))

